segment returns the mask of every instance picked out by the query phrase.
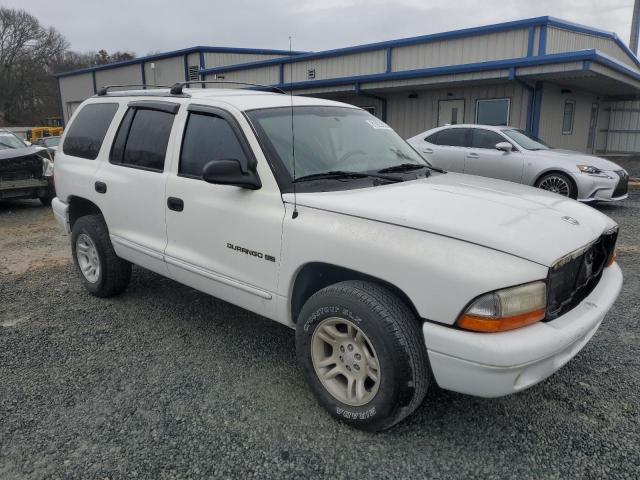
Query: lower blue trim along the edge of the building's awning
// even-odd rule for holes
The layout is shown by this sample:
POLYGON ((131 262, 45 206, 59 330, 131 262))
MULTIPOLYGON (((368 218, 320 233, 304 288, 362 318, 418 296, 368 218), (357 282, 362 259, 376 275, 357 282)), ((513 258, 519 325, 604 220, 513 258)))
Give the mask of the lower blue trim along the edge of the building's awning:
MULTIPOLYGON (((510 60, 492 60, 487 62, 478 62, 465 65, 450 65, 445 67, 422 68, 417 70, 404 70, 401 72, 391 73, 375 73, 371 75, 358 75, 350 77, 330 78, 326 80, 306 80, 293 84, 282 83, 277 85, 282 89, 307 89, 307 88, 323 88, 340 85, 351 85, 371 82, 384 82, 390 80, 407 80, 412 78, 433 77, 440 75, 451 75, 460 73, 483 72, 490 70, 517 69, 519 67, 530 67, 537 65, 549 65, 555 63, 576 62, 576 61, 593 61, 608 66, 616 71, 624 73, 635 80, 640 81, 640 73, 634 72, 629 67, 619 63, 597 50, 580 50, 578 52, 554 53, 544 56, 520 57, 510 60)), ((517 74, 514 71, 514 78, 517 74)))

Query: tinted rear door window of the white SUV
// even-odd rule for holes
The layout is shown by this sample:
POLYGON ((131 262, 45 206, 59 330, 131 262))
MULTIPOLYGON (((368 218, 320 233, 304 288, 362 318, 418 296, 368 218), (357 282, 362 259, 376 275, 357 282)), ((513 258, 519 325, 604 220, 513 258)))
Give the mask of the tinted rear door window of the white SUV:
POLYGON ((130 108, 113 142, 111 163, 163 171, 173 118, 159 110, 130 108))

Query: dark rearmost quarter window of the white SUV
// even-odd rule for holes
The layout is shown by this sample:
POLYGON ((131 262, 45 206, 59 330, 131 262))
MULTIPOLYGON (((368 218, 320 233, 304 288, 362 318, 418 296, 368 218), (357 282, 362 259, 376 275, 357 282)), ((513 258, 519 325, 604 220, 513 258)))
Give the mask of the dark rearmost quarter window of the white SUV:
POLYGON ((82 107, 69 127, 62 151, 95 160, 117 110, 117 103, 92 103, 82 107))

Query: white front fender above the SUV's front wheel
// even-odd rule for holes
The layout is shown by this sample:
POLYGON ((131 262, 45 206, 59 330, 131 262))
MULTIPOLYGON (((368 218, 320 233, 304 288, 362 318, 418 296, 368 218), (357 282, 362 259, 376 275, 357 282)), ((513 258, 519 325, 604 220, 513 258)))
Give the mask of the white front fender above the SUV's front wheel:
POLYGON ((305 264, 323 262, 380 278, 420 317, 451 325, 478 295, 547 276, 543 265, 454 238, 303 206, 293 219, 286 209, 278 285, 285 298, 305 264))

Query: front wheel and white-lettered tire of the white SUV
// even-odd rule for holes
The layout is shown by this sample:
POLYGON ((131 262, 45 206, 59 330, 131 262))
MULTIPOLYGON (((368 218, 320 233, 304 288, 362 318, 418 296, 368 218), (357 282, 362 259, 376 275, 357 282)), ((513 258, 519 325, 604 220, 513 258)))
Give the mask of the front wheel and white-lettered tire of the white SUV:
POLYGON ((309 298, 298 318, 296 351, 319 402, 362 430, 384 430, 403 420, 429 385, 418 319, 375 283, 340 282, 309 298))

